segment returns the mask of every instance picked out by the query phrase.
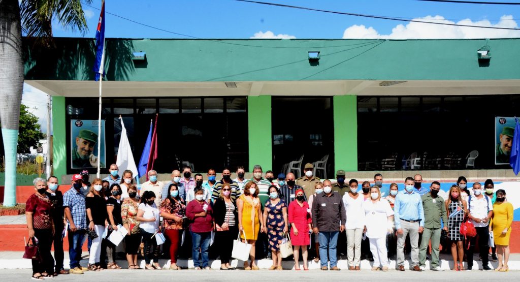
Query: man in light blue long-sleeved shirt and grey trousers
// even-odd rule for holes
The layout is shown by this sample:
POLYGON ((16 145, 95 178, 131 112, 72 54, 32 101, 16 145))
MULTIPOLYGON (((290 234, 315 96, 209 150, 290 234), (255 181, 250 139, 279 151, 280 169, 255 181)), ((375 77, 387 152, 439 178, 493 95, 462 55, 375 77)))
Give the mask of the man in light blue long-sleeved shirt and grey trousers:
POLYGON ((394 204, 395 228, 397 229, 397 265, 405 271, 405 240, 410 235, 412 270, 419 267, 419 234, 424 229, 424 210, 421 196, 414 187, 412 177, 406 177, 405 190, 397 194, 394 204))

